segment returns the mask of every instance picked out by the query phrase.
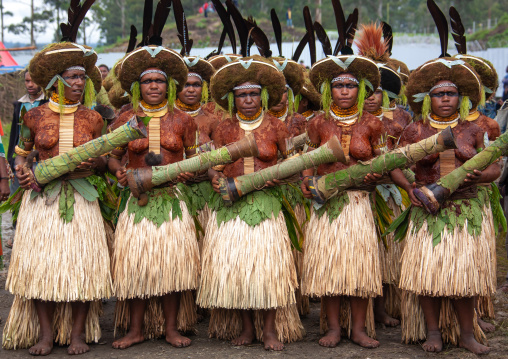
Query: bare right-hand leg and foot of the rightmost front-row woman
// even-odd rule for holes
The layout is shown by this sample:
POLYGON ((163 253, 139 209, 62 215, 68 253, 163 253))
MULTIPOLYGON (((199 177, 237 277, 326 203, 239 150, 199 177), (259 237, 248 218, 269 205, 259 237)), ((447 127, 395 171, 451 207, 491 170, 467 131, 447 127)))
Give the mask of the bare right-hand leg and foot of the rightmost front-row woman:
POLYGON ((459 346, 475 354, 487 354, 490 348, 478 343, 473 334, 474 298, 460 298, 453 301, 460 325, 459 346))

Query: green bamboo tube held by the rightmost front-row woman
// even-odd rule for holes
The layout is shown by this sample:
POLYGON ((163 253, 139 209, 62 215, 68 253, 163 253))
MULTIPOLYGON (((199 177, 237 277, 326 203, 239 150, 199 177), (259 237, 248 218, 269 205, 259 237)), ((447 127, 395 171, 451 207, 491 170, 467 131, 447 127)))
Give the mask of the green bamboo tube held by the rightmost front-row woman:
POLYGON ((473 173, 474 170, 483 171, 507 152, 508 132, 505 132, 489 147, 464 162, 462 166, 441 177, 436 183, 415 189, 414 194, 429 213, 435 214, 443 202, 464 183, 468 173, 473 173))

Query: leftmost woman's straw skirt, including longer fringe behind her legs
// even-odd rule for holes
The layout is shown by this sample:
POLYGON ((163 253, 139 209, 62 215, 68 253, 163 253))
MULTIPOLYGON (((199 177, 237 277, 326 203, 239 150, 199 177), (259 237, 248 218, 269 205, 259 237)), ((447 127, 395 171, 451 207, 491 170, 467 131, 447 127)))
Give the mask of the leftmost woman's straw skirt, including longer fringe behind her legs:
POLYGON ((69 302, 91 301, 85 339, 101 336, 100 299, 111 295, 108 246, 97 201, 74 192, 74 217, 65 223, 58 198, 51 205, 24 194, 15 233, 6 288, 15 297, 3 331, 5 349, 28 348, 39 336, 33 300, 57 302, 53 317, 55 341, 70 343, 72 308, 69 302))

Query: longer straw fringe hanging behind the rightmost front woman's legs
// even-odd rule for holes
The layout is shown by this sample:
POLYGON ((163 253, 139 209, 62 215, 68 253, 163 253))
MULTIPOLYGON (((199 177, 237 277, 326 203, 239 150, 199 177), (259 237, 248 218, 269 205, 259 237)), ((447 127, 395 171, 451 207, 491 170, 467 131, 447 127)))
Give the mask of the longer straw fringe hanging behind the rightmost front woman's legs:
MULTIPOLYGON (((487 338, 478 325, 476 312, 473 316, 474 337, 477 342, 487 345, 487 338)), ((425 317, 418 296, 403 291, 402 294, 402 342, 405 344, 423 341, 427 338, 425 317)), ((439 329, 444 343, 457 345, 460 339, 460 326, 450 298, 443 298, 439 312, 439 329)))

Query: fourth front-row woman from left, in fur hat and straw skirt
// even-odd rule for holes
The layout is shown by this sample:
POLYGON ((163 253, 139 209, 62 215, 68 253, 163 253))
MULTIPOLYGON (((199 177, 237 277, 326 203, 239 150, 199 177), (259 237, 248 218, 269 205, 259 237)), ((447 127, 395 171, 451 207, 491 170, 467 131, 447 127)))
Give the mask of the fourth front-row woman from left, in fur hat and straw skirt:
MULTIPOLYGON (((379 86, 376 63, 355 55, 329 56, 312 66, 310 79, 321 89, 324 114, 308 124, 308 146, 317 148, 336 135, 349 156, 349 164, 324 164, 317 168, 317 174, 335 172, 379 155, 384 146, 382 123, 364 111, 365 98, 379 86)), ((313 170, 303 174, 313 175, 313 170)), ((312 198, 308 178, 302 183, 302 191, 307 198, 312 198)), ((369 298, 382 294, 369 192, 349 190, 324 206, 313 208, 303 249, 302 294, 321 297, 323 314, 328 321, 328 332, 319 344, 335 347, 339 343, 339 317, 345 317, 348 319, 342 324, 355 343, 367 348, 377 347, 379 342, 365 332, 369 298)), ((373 325, 370 327, 370 335, 374 336, 373 325)))

